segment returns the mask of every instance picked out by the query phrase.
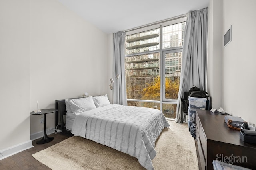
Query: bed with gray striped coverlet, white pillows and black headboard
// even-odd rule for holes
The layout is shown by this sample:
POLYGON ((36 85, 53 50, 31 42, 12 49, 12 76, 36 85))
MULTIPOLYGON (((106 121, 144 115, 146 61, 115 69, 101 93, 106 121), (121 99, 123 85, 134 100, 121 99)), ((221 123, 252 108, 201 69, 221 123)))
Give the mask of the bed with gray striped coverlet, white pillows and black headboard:
POLYGON ((107 95, 56 100, 56 109, 59 129, 136 157, 144 168, 154 170, 155 141, 169 127, 158 109, 110 104, 107 95))

